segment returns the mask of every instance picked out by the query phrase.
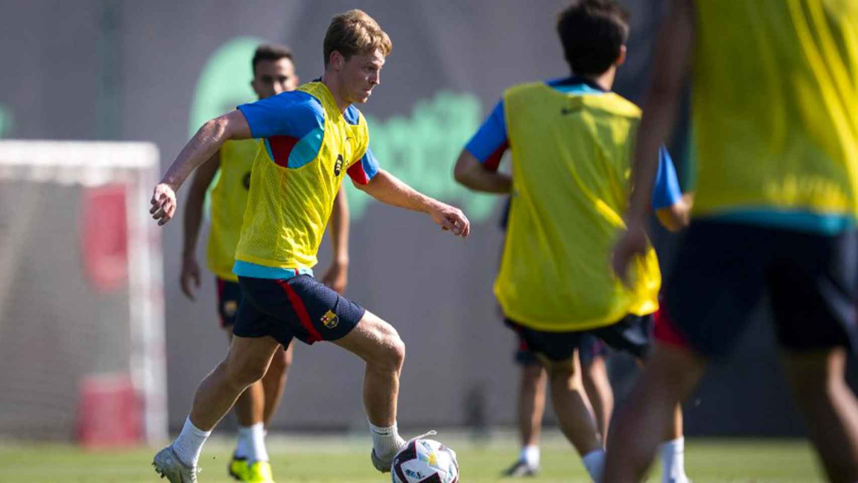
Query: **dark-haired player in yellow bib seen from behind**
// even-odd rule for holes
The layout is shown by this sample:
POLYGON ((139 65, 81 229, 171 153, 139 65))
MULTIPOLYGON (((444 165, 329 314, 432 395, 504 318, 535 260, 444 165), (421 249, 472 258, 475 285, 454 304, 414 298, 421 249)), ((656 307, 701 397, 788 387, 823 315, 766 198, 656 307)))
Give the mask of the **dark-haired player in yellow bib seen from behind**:
MULTIPOLYGON (((538 354, 560 428, 601 481, 605 451, 589 412, 576 353, 586 335, 644 358, 661 285, 648 248, 624 287, 610 270, 631 188, 631 146, 641 112, 610 92, 625 61, 628 14, 619 3, 578 0, 557 31, 572 75, 508 89, 456 162, 456 180, 511 193, 510 222, 495 282, 507 325, 538 354), (512 176, 498 172, 512 152, 512 176)), ((651 204, 666 216, 683 204, 667 151, 651 204)), ((654 176, 655 178, 655 176, 654 176)), ((669 217, 669 216, 668 216, 669 217)), ((665 482, 685 482, 681 413, 662 427, 665 482)))

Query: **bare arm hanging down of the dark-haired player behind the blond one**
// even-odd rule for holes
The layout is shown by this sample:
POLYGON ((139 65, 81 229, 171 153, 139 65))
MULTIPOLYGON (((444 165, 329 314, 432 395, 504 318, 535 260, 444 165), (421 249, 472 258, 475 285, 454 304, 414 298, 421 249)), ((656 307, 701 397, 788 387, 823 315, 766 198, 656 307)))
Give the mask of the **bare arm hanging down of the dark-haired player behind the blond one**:
POLYGON ((208 185, 215 178, 221 166, 220 151, 194 173, 190 182, 187 205, 184 207, 184 225, 182 232, 182 272, 179 275, 179 285, 188 299, 196 299, 196 288, 200 287, 200 266, 196 263, 196 239, 200 235, 202 224, 202 204, 205 202, 208 185))

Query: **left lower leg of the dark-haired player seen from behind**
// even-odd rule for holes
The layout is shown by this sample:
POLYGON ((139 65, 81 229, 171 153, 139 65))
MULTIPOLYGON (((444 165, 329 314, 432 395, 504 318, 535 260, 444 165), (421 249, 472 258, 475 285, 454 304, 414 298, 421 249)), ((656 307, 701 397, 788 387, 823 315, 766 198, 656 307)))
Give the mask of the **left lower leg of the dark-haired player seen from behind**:
POLYGON ((577 351, 570 359, 553 361, 541 358, 548 374, 551 401, 560 429, 578 454, 584 468, 595 481, 601 481, 605 451, 590 413, 589 401, 581 383, 581 367, 577 351))

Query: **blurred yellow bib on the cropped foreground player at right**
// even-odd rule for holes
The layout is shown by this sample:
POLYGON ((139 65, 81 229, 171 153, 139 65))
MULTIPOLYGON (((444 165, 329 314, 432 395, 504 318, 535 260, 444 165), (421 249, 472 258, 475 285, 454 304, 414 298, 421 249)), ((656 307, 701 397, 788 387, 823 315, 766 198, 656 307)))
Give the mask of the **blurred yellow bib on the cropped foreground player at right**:
POLYGON ((858 214, 858 2, 698 0, 695 214, 858 214))

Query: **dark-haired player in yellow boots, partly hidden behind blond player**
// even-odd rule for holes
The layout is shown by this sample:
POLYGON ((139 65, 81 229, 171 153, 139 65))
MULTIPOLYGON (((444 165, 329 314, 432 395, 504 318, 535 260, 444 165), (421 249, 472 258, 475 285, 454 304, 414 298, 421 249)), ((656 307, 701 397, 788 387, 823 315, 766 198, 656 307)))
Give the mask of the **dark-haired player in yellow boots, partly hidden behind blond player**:
MULTIPOLYGON (((259 45, 251 59, 251 88, 259 99, 267 99, 298 87, 298 75, 292 61, 292 49, 286 45, 259 45)), ((241 224, 250 189, 251 166, 259 142, 253 139, 224 142, 223 146, 194 175, 184 209, 184 244, 182 247, 182 291, 195 299, 200 285, 200 268, 196 263, 196 238, 202 221, 206 190, 220 170, 221 175, 211 190, 211 229, 206 250, 208 269, 215 274, 217 308, 221 328, 232 338, 233 323, 241 305, 239 278, 233 274, 235 249, 239 245, 241 224)), ((342 293, 347 283, 348 204, 340 190, 331 212, 331 236, 334 260, 323 282, 342 293)), ((227 471, 239 481, 269 481, 271 471, 265 433, 286 387, 292 365, 293 346, 277 351, 265 377, 252 383, 235 402, 239 420, 239 441, 227 471)))

